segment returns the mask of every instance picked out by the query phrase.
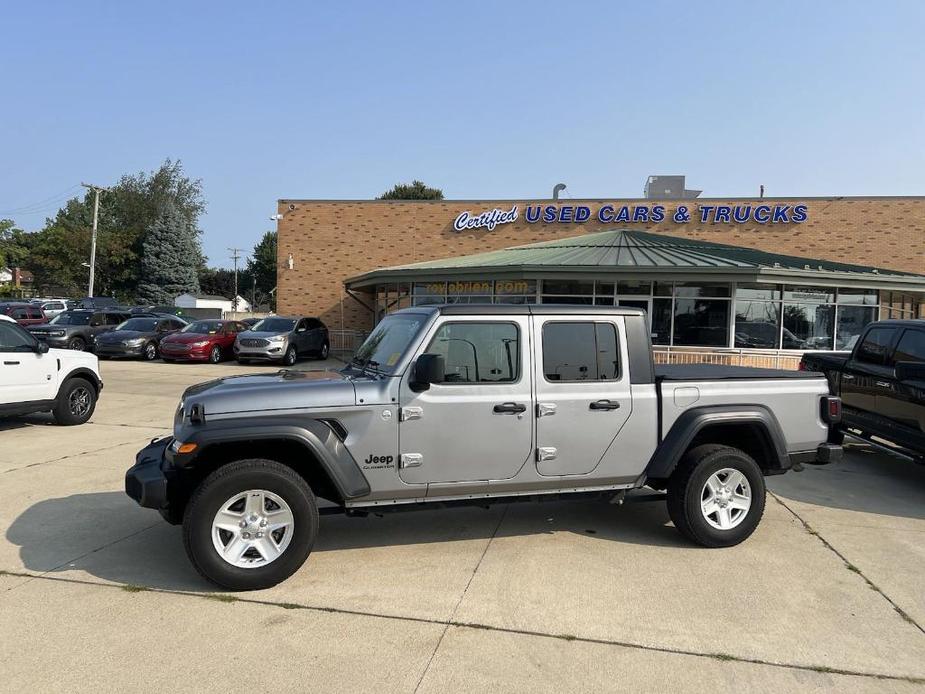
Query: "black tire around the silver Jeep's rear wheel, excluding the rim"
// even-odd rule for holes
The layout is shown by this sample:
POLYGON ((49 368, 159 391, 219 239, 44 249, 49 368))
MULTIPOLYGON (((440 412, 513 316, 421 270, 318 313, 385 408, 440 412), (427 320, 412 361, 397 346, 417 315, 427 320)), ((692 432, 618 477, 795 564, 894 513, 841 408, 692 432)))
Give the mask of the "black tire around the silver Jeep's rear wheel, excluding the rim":
MULTIPOLYGON (((764 475, 758 464, 743 451, 729 446, 706 444, 688 451, 668 480, 668 515, 689 540, 704 547, 731 547, 751 535, 764 513, 764 475), (751 504, 744 517, 729 529, 714 527, 701 510, 706 483, 725 468, 745 476, 751 504)), ((732 512, 730 512, 732 513, 732 512)))

